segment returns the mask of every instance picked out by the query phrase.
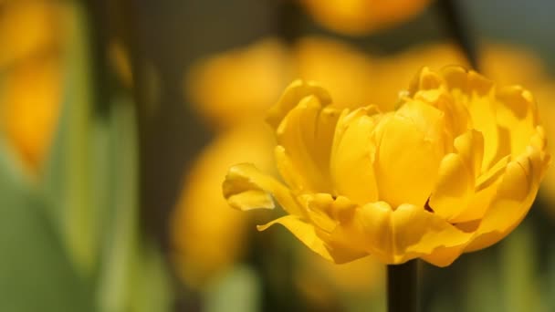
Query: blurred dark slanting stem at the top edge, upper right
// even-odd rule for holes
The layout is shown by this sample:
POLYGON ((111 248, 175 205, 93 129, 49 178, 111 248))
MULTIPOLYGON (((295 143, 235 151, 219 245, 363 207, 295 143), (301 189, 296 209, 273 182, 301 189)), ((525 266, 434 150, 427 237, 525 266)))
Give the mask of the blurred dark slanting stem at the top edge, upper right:
POLYGON ((478 69, 476 39, 472 29, 468 26, 464 12, 460 8, 457 0, 438 0, 437 8, 440 17, 443 18, 445 27, 449 35, 453 37, 458 45, 465 52, 470 66, 478 69))

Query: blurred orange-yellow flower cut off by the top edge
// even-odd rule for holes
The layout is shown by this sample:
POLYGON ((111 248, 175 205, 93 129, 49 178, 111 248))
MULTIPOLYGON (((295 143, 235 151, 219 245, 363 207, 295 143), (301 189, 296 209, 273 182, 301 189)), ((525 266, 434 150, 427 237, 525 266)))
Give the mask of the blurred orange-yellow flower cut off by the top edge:
POLYGON ((300 0, 323 26, 364 35, 401 23, 424 10, 430 0, 300 0))

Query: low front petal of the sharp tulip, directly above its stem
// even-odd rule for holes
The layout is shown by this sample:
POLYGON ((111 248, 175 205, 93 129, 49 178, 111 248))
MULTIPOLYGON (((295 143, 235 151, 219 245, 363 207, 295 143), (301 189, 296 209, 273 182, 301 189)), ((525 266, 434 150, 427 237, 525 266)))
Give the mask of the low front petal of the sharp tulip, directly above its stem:
POLYGON ((430 262, 449 265, 473 234, 459 230, 423 207, 403 204, 393 211, 389 204, 377 202, 356 209, 336 235, 347 237, 352 248, 365 250, 386 264, 428 256, 430 262), (445 248, 449 248, 448 253, 445 248))

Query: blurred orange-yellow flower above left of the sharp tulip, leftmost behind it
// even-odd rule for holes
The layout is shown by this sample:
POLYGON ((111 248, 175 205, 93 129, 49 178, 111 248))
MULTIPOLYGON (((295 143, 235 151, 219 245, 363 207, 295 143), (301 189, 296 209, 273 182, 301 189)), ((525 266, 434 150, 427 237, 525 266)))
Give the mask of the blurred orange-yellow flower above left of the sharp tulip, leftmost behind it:
POLYGON ((216 128, 261 116, 292 75, 288 57, 278 40, 266 39, 207 58, 188 75, 187 94, 194 108, 216 128))

